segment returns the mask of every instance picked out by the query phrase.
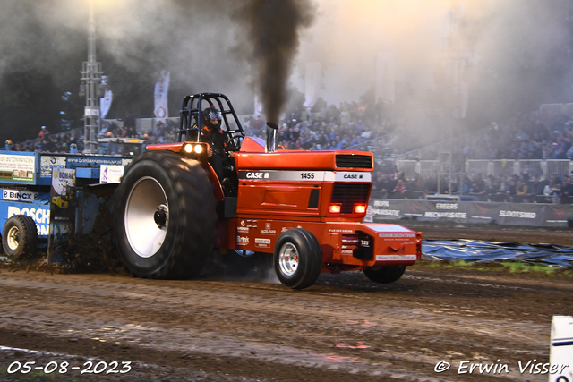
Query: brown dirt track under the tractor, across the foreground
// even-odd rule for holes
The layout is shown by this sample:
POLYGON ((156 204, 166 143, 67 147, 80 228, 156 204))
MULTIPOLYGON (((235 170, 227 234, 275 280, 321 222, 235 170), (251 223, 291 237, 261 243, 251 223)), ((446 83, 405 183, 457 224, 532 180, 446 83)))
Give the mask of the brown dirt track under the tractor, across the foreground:
POLYGON ((0 346, 40 351, 0 350, 0 380, 546 381, 520 373, 518 362, 548 361, 552 315, 573 315, 570 279, 423 265, 395 284, 323 274, 304 291, 274 277, 157 281, 2 268, 0 296, 0 346), (451 369, 436 373, 440 360, 451 369), (9 374, 14 361, 108 367, 9 374), (132 369, 105 374, 113 361, 132 369), (458 374, 460 361, 507 364, 509 373, 458 374))

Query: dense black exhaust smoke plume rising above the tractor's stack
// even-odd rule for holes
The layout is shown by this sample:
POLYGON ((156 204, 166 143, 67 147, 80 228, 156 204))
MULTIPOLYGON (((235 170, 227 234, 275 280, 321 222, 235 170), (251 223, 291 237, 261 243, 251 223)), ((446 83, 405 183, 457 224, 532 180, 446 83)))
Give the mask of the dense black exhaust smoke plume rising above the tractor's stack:
POLYGON ((278 123, 286 103, 286 81, 299 45, 299 31, 314 18, 311 0, 248 0, 239 5, 235 21, 246 31, 239 41, 255 71, 267 121, 278 123))

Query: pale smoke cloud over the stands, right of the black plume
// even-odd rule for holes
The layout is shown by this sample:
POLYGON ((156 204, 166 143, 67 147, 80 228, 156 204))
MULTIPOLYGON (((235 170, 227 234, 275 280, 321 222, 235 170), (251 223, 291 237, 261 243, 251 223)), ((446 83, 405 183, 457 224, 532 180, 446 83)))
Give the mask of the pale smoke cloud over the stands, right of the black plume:
MULTIPOLYGON (((468 89, 468 129, 543 103, 573 101, 573 3, 539 0, 316 0, 294 78, 303 89, 304 64, 320 62, 321 97, 359 101, 376 86, 376 60, 392 57, 399 132, 425 145, 444 138, 456 87, 468 89), (452 75, 453 58, 463 66, 452 75), (457 83, 458 81, 458 83, 457 83)), ((373 93, 372 93, 373 94, 373 93)), ((374 100, 372 100, 374 101, 374 100)))

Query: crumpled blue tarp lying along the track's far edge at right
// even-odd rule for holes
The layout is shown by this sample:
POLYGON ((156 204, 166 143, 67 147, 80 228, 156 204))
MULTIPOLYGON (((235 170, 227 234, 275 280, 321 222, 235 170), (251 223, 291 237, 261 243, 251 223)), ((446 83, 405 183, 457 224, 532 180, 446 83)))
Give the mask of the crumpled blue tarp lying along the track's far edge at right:
POLYGON ((573 246, 483 242, 479 240, 424 240, 427 259, 465 261, 522 261, 556 267, 573 266, 573 246))

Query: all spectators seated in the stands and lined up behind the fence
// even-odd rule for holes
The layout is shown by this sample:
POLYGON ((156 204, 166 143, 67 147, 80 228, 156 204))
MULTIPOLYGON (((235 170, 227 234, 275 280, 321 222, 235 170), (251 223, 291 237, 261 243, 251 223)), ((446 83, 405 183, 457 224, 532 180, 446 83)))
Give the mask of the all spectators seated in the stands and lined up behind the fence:
MULTIPOLYGON (((310 110, 299 106, 285 113, 279 123, 278 144, 285 149, 359 149, 369 150, 375 140, 394 132, 393 125, 381 113, 381 108, 368 109, 356 102, 343 102, 339 107, 323 104, 310 110)), ((101 138, 138 138, 145 144, 175 141, 178 123, 167 119, 159 122, 148 132, 138 132, 135 119, 126 115, 123 125, 119 121, 102 121, 101 138)), ((247 136, 264 138, 266 124, 259 115, 244 118, 243 128, 247 136)), ((75 131, 50 133, 45 126, 32 140, 14 144, 11 149, 37 152, 70 152, 75 145, 83 150, 82 137, 75 131)), ((561 113, 537 111, 517 115, 505 123, 492 123, 472 136, 461 140, 454 151, 463 159, 565 159, 573 157, 573 121, 561 113)), ((436 157, 426 157, 436 159, 436 157)), ((372 190, 382 198, 419 199, 426 194, 445 190, 452 194, 468 196, 477 200, 535 201, 570 200, 573 198, 573 174, 530 176, 527 172, 512 176, 471 177, 458 169, 451 183, 447 176, 424 178, 415 174, 406 179, 395 167, 377 166, 372 174, 372 190)))

